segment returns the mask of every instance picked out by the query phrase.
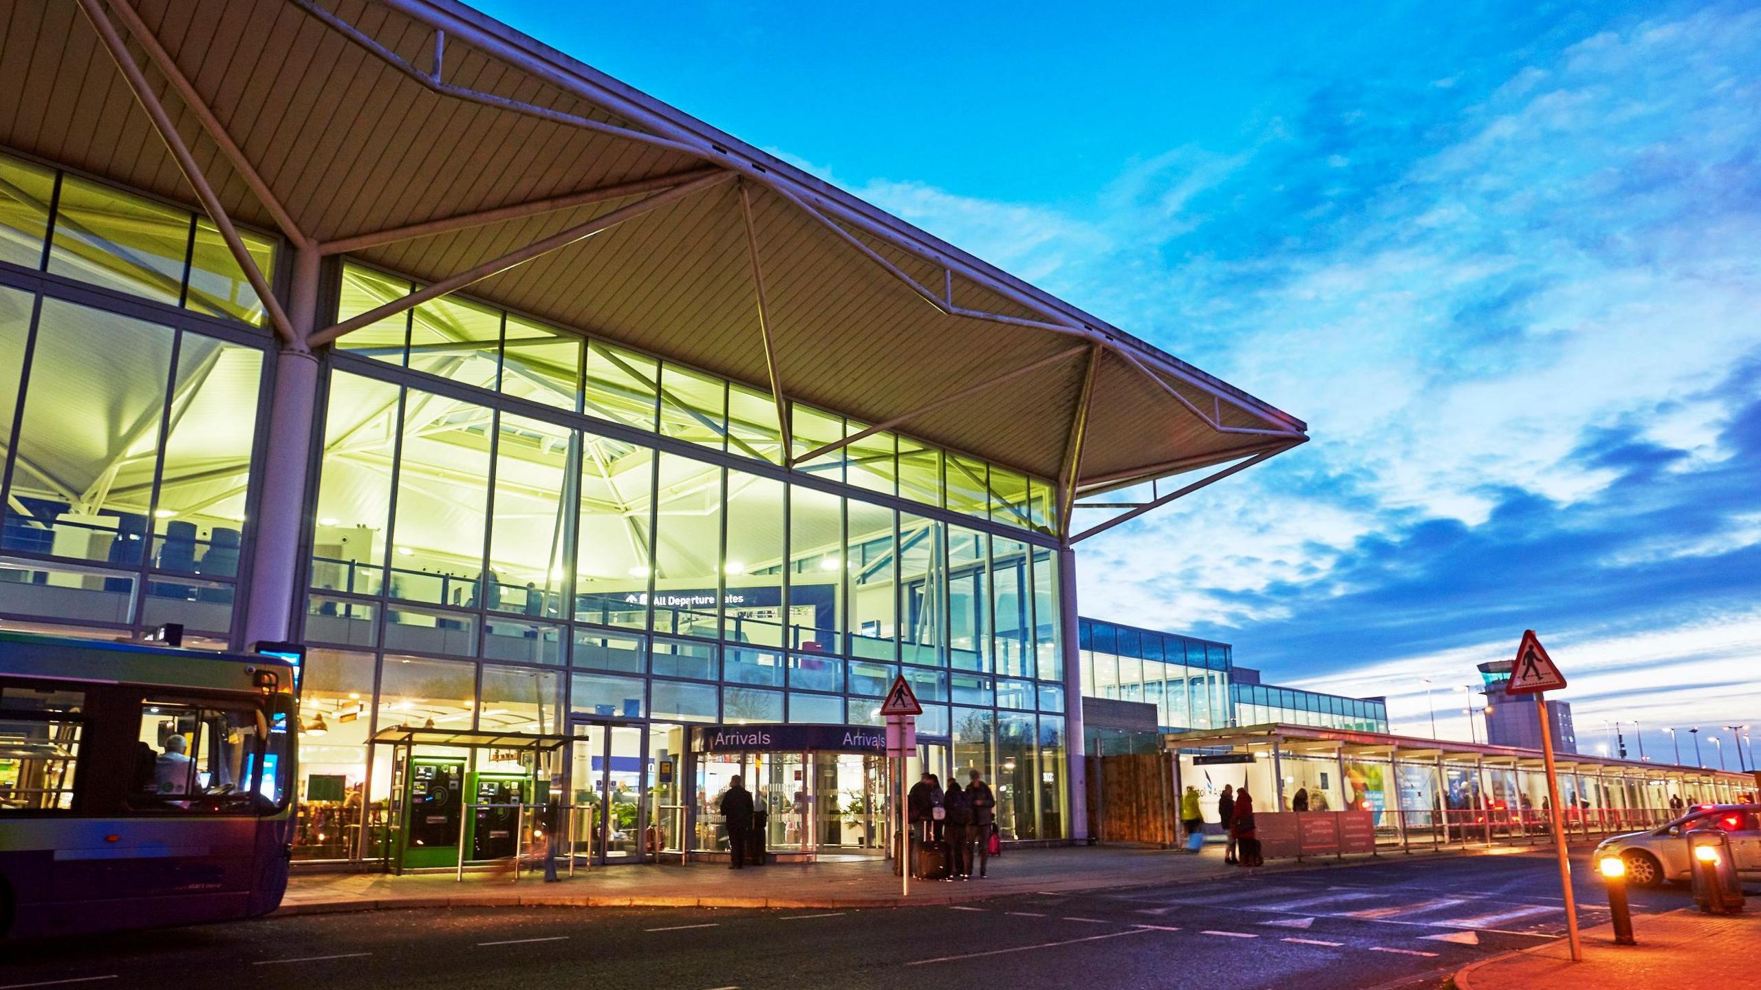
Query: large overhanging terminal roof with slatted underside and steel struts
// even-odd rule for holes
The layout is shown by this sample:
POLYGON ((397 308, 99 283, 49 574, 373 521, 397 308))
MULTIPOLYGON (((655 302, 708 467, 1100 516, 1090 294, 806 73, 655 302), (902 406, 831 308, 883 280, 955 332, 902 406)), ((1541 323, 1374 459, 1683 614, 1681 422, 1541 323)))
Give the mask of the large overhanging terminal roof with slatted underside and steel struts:
MULTIPOLYGON (((1307 440, 1300 419, 453 0, 18 0, 0 86, 18 95, 0 144, 169 199, 194 188, 218 225, 280 229, 299 259, 347 252, 1055 479, 1065 520, 1081 493, 1307 440)), ((349 329, 280 307, 271 322, 296 349, 349 329)))

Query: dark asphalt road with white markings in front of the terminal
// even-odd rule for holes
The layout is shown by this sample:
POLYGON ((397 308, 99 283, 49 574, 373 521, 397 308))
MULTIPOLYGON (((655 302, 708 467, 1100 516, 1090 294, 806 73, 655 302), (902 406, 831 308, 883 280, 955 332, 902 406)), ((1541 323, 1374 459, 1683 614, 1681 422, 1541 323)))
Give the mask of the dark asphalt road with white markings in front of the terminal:
MULTIPOLYGON (((997 867, 1007 868, 1007 860, 997 867)), ((1606 898, 1588 863, 1574 872, 1583 923, 1604 921, 1606 898)), ((1689 902, 1682 890, 1634 891, 1639 914, 1689 902)), ((958 907, 294 916, 5 946, 0 990, 232 990, 241 981, 301 990, 1437 986, 1474 958, 1557 939, 1564 925, 1548 856, 1389 856, 958 907)), ((1643 934, 1643 918, 1638 927, 1643 934)))

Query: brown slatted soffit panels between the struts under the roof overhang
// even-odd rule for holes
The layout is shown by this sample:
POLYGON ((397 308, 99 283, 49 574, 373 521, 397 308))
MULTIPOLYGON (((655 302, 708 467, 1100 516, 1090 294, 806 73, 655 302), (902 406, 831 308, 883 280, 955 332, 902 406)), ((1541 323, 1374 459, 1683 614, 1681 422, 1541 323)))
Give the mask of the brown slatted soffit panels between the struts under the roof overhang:
MULTIPOLYGON (((431 69, 431 26, 380 0, 321 2, 410 65, 423 72, 431 69)), ((717 162, 713 153, 655 146, 431 92, 292 0, 100 4, 125 37, 120 7, 127 4, 139 14, 299 231, 319 243, 701 169, 706 160, 729 164, 717 162)), ((590 69, 451 0, 426 0, 423 9, 483 25, 497 39, 549 65, 565 63, 583 79, 606 83, 590 69)), ((11 0, 0 18, 0 92, 16 95, 0 102, 0 144, 169 199, 195 199, 77 4, 11 0)), ((166 76, 151 67, 146 49, 134 39, 129 48, 222 206, 239 222, 273 229, 271 211, 203 132, 197 115, 166 76)), ((446 42, 442 78, 451 86, 639 130, 579 92, 567 92, 456 37, 446 42)), ((625 93, 669 120, 718 134, 641 93, 625 93)), ((1175 462, 1187 465, 1183 469, 1205 467, 1303 439, 1301 421, 1065 303, 1046 298, 1046 307, 1030 307, 1023 292, 1035 289, 761 151, 722 139, 718 150, 733 148, 745 162, 764 162, 763 174, 748 173, 740 183, 690 194, 484 278, 468 291, 768 388, 740 204, 745 188, 752 196, 777 379, 791 398, 880 423, 1099 335, 1108 349, 1097 368, 1088 416, 1085 484, 1175 462), (1071 329, 944 312, 946 307, 930 305, 778 188, 808 201, 836 199, 844 208, 880 217, 896 236, 851 225, 844 231, 935 294, 944 292, 949 277, 926 254, 954 257, 960 268, 951 277, 954 307, 1062 322, 1071 329), (1118 351, 1131 351, 1143 366, 1127 363, 1118 351), (1152 380, 1150 373, 1160 380, 1152 380), (1190 396, 1205 416, 1171 396, 1169 388, 1190 396), (1277 435, 1222 432, 1208 419, 1277 435)), ((641 196, 354 254, 433 282, 637 199, 641 196)), ((1060 477, 1081 405, 1087 359, 1085 351, 1050 363, 914 416, 900 432, 1060 477)))

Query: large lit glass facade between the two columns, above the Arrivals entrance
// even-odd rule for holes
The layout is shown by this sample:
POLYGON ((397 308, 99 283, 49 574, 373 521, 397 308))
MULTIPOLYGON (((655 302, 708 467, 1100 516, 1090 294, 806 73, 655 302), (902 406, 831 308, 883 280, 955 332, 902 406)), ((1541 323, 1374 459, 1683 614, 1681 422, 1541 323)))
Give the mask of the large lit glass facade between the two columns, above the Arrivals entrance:
MULTIPOLYGON (((409 289, 349 268, 343 317, 409 289)), ((872 435, 785 472, 768 395, 435 303, 345 336, 328 375, 305 638, 380 671, 328 689, 365 733, 324 765, 345 794, 386 798, 387 726, 872 724, 903 671, 919 735, 1007 789, 1007 837, 1064 833, 1057 557, 991 518, 1028 514, 1034 479, 967 460, 963 484, 1004 484, 962 497, 983 521, 900 511, 902 477, 944 499, 942 451, 872 435), (410 664, 438 664, 431 691, 410 664)), ((798 453, 863 430, 794 421, 798 453)))

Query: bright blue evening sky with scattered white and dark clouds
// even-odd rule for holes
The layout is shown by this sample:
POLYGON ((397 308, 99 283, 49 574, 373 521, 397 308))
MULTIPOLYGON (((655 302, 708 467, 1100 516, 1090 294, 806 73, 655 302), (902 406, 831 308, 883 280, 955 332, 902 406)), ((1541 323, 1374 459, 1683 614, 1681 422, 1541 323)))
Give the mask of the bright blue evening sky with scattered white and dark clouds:
POLYGON ((1587 745, 1761 729, 1761 9, 483 7, 1310 423, 1085 613, 1407 729, 1534 627, 1587 745))

